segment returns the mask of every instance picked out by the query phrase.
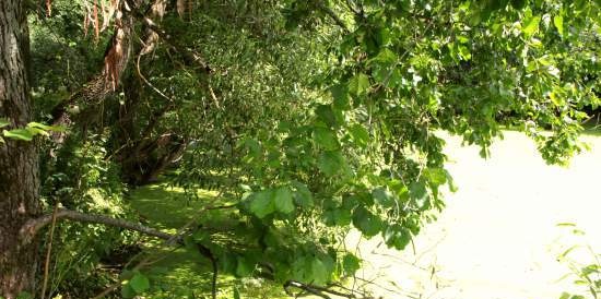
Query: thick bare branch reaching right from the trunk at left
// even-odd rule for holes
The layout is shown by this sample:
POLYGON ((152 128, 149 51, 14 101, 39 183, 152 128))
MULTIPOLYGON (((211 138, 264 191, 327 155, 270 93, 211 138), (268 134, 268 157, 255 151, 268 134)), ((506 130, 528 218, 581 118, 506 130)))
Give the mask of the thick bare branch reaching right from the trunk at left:
MULTIPOLYGON (((163 240, 173 240, 175 235, 163 232, 161 230, 143 226, 141 224, 132 223, 126 219, 111 218, 105 215, 99 214, 85 214, 76 211, 60 208, 56 213, 57 219, 70 219, 80 223, 90 223, 90 224, 104 224, 113 227, 120 227, 129 230, 134 230, 148 236, 152 236, 163 240)), ((46 214, 35 219, 31 219, 23 227, 21 227, 20 235, 23 240, 23 243, 28 243, 33 240, 35 235, 44 228, 46 225, 52 222, 52 214, 46 214)), ((177 240, 180 242, 180 240, 177 240)))

